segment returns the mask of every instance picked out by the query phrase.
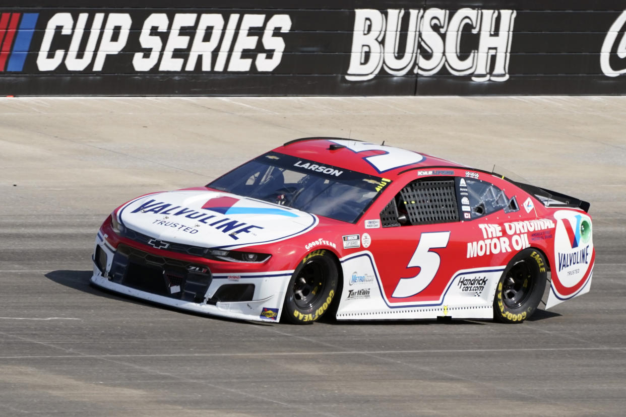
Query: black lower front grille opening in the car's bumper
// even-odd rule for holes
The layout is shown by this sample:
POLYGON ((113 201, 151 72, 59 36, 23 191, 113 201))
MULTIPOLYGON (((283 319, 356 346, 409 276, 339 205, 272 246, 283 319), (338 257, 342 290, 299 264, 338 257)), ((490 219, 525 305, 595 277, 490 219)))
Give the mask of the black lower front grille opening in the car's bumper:
POLYGON ((207 266, 120 244, 113 257, 109 279, 148 293, 202 303, 212 275, 207 266))

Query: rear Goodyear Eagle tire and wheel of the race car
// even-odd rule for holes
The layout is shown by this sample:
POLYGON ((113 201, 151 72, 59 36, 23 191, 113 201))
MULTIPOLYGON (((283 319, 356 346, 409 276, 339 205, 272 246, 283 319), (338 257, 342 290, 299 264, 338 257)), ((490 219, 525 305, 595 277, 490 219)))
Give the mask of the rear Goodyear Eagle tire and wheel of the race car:
POLYGON ((493 317, 502 323, 521 323, 535 312, 546 286, 546 260, 540 251, 524 249, 502 273, 493 299, 493 317))

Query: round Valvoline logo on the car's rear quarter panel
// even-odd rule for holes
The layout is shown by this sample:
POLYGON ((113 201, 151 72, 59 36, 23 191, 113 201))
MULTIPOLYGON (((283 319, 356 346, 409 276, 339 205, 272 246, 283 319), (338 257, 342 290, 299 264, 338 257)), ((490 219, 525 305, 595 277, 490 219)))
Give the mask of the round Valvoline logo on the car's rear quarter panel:
POLYGON ((575 296, 585 286, 593 268, 595 250, 590 218, 584 213, 557 211, 555 264, 552 287, 560 299, 575 296))

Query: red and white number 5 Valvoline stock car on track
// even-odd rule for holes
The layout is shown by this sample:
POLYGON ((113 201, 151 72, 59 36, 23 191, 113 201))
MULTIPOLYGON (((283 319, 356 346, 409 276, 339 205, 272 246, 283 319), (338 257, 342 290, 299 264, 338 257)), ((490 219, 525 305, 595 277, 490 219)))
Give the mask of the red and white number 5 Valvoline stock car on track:
POLYGON ((587 293, 585 201, 425 154, 285 143, 102 224, 91 283, 228 318, 496 319, 587 293))

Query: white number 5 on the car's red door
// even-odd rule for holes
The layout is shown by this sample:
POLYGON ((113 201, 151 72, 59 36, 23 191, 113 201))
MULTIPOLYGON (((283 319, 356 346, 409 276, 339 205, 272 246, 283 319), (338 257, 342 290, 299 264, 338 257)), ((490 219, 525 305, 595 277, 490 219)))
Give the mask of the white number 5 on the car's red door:
POLYGON ((392 296, 404 298, 421 293, 431 282, 437 271, 441 258, 439 254, 431 252, 433 248, 445 248, 448 246, 450 232, 422 233, 419 237, 418 247, 415 249, 406 268, 419 266, 419 273, 413 278, 401 278, 392 296))

